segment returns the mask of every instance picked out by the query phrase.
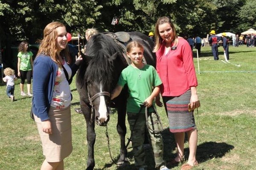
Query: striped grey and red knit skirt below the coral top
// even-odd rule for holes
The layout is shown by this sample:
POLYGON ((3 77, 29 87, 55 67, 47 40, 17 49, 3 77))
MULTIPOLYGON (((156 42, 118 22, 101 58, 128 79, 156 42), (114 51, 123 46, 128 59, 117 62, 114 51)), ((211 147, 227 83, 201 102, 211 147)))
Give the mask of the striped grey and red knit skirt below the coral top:
POLYGON ((163 96, 170 132, 187 132, 196 128, 194 111, 188 109, 190 98, 190 89, 180 96, 163 96))

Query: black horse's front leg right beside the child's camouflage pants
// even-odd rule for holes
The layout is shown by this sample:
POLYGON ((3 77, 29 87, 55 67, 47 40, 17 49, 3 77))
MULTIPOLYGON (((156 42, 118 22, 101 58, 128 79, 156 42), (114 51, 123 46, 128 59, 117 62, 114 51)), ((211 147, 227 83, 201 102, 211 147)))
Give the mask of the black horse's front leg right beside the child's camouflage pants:
POLYGON ((116 125, 117 132, 120 136, 120 158, 118 160, 118 164, 123 164, 124 162, 128 162, 127 156, 127 148, 125 147, 125 134, 126 134, 126 126, 125 126, 125 117, 126 117, 126 101, 124 104, 120 105, 117 108, 118 113, 118 121, 116 125))

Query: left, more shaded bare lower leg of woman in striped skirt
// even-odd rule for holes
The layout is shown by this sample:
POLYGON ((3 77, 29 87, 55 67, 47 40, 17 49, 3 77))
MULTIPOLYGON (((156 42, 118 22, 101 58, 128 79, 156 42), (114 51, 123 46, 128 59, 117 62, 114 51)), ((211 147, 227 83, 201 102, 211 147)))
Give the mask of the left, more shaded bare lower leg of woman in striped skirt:
POLYGON ((184 132, 174 133, 174 138, 177 146, 177 156, 175 158, 175 161, 179 162, 182 160, 184 156, 185 133, 184 132))

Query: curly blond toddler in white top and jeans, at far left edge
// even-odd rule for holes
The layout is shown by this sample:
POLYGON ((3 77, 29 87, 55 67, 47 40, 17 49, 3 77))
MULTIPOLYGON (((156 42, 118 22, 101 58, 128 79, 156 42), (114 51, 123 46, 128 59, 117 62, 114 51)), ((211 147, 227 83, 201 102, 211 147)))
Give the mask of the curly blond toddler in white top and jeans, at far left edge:
POLYGON ((6 94, 7 96, 12 100, 14 99, 14 90, 15 90, 15 83, 14 81, 17 80, 17 77, 15 76, 15 71, 12 68, 5 68, 3 70, 3 74, 5 77, 3 77, 3 81, 6 82, 6 94))

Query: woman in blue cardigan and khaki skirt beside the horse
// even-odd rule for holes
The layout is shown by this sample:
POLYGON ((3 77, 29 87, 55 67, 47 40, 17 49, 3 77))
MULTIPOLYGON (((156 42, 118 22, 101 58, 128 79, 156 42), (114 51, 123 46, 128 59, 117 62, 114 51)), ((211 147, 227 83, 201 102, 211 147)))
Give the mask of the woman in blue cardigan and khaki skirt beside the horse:
POLYGON ((69 84, 82 62, 72 63, 67 31, 60 22, 44 28, 44 38, 34 62, 32 111, 45 160, 41 170, 64 170, 64 159, 73 150, 69 84))

